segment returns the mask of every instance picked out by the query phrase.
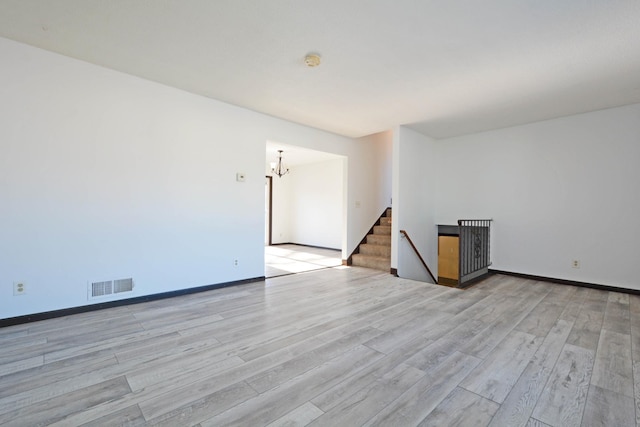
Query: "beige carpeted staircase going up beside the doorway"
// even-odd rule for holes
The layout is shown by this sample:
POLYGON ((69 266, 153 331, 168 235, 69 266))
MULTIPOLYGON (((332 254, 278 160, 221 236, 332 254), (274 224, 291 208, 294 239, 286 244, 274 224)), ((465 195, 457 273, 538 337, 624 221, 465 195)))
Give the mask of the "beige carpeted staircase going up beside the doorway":
POLYGON ((391 271, 391 208, 387 208, 352 256, 352 265, 391 271))

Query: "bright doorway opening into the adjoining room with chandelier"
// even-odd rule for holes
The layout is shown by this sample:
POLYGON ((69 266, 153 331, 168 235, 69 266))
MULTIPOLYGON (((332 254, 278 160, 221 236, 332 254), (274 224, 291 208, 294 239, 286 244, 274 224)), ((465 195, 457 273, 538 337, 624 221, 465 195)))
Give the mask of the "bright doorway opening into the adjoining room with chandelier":
POLYGON ((265 276, 342 265, 347 157, 272 141, 265 157, 265 276), (274 176, 280 154, 289 173, 274 176))

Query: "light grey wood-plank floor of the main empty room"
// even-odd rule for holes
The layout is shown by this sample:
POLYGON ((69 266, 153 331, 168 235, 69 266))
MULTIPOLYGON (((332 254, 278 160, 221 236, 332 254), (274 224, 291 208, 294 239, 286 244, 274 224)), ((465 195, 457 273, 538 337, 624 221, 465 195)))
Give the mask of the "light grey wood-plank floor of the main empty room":
POLYGON ((633 426, 640 297, 336 267, 0 329, 0 425, 633 426))

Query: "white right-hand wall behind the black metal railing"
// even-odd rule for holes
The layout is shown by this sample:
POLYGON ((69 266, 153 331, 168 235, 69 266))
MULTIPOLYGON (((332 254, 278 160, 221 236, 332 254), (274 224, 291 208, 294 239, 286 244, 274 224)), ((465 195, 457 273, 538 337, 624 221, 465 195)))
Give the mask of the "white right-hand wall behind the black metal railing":
POLYGON ((437 222, 493 218, 494 269, 640 289, 639 161, 640 104, 441 140, 437 222))

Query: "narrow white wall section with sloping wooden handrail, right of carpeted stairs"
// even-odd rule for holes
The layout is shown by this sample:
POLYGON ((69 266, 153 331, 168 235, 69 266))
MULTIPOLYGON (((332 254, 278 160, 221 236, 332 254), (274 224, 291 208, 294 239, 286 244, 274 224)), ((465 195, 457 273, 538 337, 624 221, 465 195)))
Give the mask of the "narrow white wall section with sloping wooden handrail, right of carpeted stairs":
POLYGON ((392 260, 400 277, 433 283, 400 230, 406 230, 437 277, 436 152, 431 138, 400 126, 394 132, 392 260))

